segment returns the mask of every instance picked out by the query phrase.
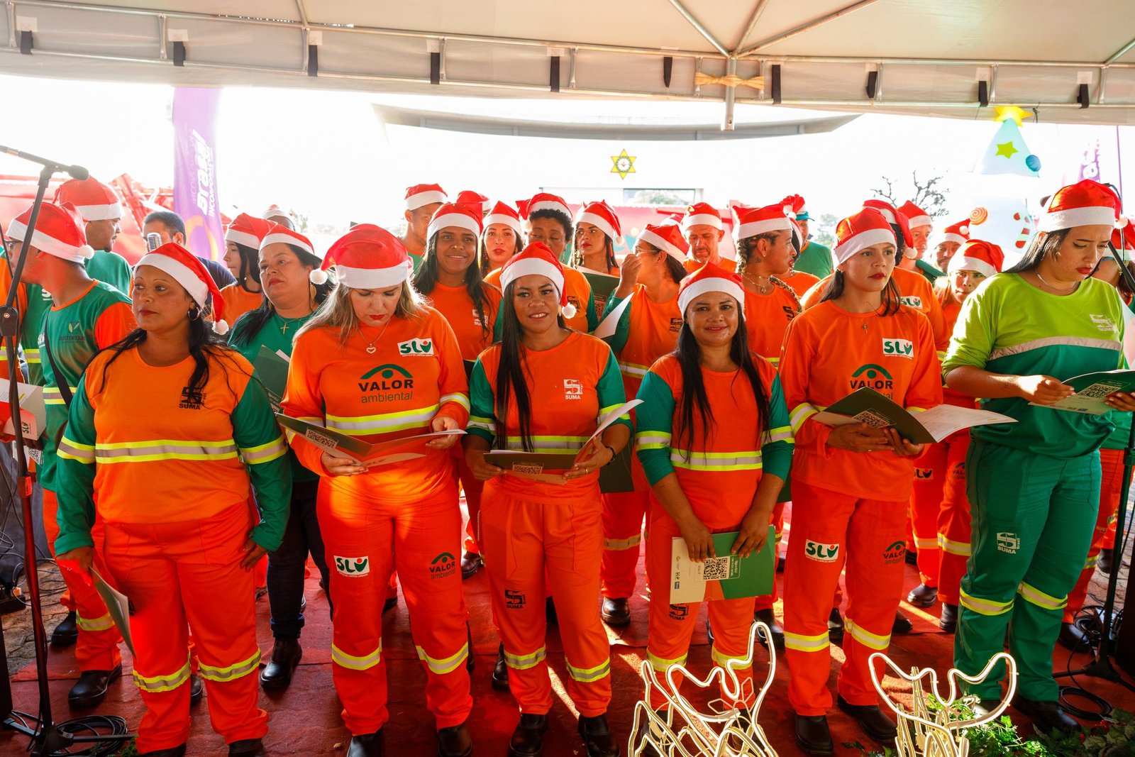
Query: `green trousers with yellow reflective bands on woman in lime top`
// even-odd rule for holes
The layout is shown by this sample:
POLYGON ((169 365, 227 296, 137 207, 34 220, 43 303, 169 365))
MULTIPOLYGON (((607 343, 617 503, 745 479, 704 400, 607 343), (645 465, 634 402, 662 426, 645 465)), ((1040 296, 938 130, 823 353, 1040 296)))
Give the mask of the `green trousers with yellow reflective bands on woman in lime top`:
MULTIPOLYGON (((1100 453, 1058 459, 974 439, 966 460, 973 554, 961 579, 953 664, 976 675, 1004 648, 1017 691, 1056 701, 1052 648, 1100 507, 1100 453)), ((1004 666, 970 687, 1001 698, 1004 666)))

